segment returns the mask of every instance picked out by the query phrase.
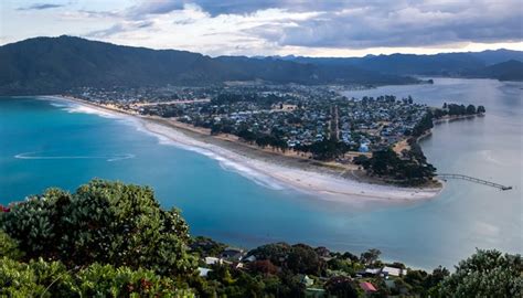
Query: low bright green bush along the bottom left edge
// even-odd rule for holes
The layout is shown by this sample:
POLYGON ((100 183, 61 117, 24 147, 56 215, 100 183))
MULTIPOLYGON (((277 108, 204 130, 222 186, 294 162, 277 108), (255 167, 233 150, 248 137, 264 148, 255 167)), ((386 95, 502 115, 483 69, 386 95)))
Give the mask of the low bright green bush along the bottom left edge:
POLYGON ((29 264, 0 259, 0 296, 8 297, 194 297, 152 270, 93 264, 67 270, 42 258, 29 264))

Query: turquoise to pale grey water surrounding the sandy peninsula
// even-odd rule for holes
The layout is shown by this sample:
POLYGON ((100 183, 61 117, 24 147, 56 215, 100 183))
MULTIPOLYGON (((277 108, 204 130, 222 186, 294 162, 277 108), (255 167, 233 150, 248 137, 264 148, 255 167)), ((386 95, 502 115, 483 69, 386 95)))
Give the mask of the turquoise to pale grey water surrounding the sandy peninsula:
POLYGON ((98 177, 152 185, 162 205, 182 210, 193 234, 246 247, 276 241, 353 253, 377 247, 386 259, 423 268, 451 266, 474 247, 523 252, 523 85, 435 81, 349 95, 483 104, 487 117, 439 125, 424 150, 440 171, 492 179, 513 191, 449 181, 434 200, 407 205, 328 202, 268 179, 249 179, 253 173, 175 147, 128 119, 8 97, 0 99, 0 203, 50 185, 74 191, 98 177))

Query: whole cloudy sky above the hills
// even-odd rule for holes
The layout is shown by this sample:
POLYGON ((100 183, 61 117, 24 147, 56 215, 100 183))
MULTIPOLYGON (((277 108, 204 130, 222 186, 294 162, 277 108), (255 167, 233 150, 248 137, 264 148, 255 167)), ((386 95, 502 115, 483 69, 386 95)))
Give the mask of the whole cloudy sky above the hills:
POLYGON ((217 55, 523 51, 522 0, 0 0, 0 44, 74 35, 217 55))

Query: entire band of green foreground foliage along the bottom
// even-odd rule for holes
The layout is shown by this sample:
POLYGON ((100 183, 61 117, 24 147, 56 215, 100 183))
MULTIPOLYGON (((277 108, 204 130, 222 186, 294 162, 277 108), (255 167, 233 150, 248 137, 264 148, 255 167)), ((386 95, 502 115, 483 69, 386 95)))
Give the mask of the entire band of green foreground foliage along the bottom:
POLYGON ((372 297, 523 297, 521 256, 497 251, 479 249, 451 275, 439 267, 384 278, 356 277, 405 268, 382 263, 377 249, 276 243, 250 251, 255 260, 243 267, 215 264, 199 277, 196 260, 225 247, 191 240, 149 188, 94 180, 73 194, 51 189, 0 213, 0 297, 363 297, 361 281, 376 287, 372 297))

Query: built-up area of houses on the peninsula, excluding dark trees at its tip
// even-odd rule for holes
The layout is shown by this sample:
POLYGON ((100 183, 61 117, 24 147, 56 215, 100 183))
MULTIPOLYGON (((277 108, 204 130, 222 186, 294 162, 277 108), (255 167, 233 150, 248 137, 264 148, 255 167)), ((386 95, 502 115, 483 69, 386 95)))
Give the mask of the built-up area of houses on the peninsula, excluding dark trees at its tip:
MULTIPOLYGON (((234 135, 259 147, 312 156, 314 143, 335 139, 344 152, 367 153, 412 135, 429 111, 412 97, 346 98, 325 86, 241 85, 93 89, 71 96, 138 115, 160 116, 210 134, 234 135)), ((340 159, 340 161, 348 161, 340 159)))

